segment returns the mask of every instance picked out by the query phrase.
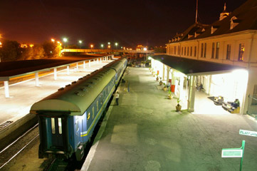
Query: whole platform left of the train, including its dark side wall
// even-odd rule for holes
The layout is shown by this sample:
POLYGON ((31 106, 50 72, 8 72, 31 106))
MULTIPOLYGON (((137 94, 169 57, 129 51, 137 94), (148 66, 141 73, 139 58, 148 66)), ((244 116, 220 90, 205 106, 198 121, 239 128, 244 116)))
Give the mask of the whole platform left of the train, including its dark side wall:
MULTIPOLYGON (((0 88, 0 149, 8 144, 14 136, 13 133, 22 133, 26 131, 26 126, 36 124, 36 115, 28 114, 33 103, 38 100, 46 98, 46 96, 55 93, 58 88, 64 87, 73 81, 77 81, 78 78, 86 76, 99 68, 107 65, 109 61, 94 61, 83 63, 74 68, 70 68, 69 75, 66 69, 57 72, 57 80, 54 80, 54 74, 48 73, 45 76, 39 78, 39 86, 35 85, 35 78, 28 79, 19 83, 14 83, 9 86, 10 98, 5 98, 4 87, 0 88)), ((68 58, 66 60, 68 62, 68 58)))

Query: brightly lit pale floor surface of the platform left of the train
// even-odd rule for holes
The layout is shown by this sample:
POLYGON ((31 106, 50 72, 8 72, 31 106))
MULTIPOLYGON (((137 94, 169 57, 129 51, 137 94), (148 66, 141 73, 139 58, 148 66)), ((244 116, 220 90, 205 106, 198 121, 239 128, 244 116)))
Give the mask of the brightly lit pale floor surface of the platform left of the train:
POLYGON ((0 88, 0 124, 6 121, 16 121, 29 113, 31 105, 38 100, 45 98, 52 93, 55 93, 58 88, 61 88, 73 81, 77 81, 78 78, 87 75, 99 68, 102 68, 111 61, 102 61, 102 63, 91 62, 83 64, 75 68, 70 68, 70 74, 67 75, 67 71, 58 71, 57 80, 54 80, 53 73, 47 76, 39 78, 40 86, 36 87, 35 79, 23 81, 9 86, 9 93, 11 98, 5 98, 4 87, 0 88))

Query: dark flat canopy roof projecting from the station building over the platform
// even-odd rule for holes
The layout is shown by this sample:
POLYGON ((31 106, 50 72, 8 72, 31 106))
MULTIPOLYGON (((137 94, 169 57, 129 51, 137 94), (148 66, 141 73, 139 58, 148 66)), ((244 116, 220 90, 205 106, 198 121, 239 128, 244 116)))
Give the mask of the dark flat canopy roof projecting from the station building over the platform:
POLYGON ((233 71, 236 69, 246 69, 240 66, 231 66, 223 63, 213 63, 209 61, 194 60, 190 58, 182 58, 169 55, 155 55, 151 56, 154 60, 160 61, 165 65, 174 68, 188 76, 191 75, 205 75, 216 74, 233 71))

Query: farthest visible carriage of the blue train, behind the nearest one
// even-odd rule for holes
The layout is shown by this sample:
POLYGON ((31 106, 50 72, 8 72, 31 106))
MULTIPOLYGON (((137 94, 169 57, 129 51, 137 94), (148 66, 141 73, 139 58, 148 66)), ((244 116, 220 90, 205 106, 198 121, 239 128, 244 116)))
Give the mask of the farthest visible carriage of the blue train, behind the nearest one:
POLYGON ((116 71, 115 84, 117 86, 122 76, 122 73, 125 71, 127 67, 127 58, 117 59, 117 61, 113 61, 112 63, 110 63, 110 65, 104 66, 104 68, 107 68, 107 67, 112 68, 116 71))

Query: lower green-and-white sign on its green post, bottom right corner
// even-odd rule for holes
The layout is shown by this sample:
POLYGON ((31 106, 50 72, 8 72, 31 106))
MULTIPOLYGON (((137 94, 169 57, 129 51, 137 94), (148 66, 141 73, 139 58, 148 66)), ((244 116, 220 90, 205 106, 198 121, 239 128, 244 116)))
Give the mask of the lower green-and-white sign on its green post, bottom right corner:
POLYGON ((221 157, 241 157, 240 171, 242 170, 243 165, 243 152, 245 143, 245 140, 243 140, 242 146, 240 148, 224 148, 221 152, 221 157))

